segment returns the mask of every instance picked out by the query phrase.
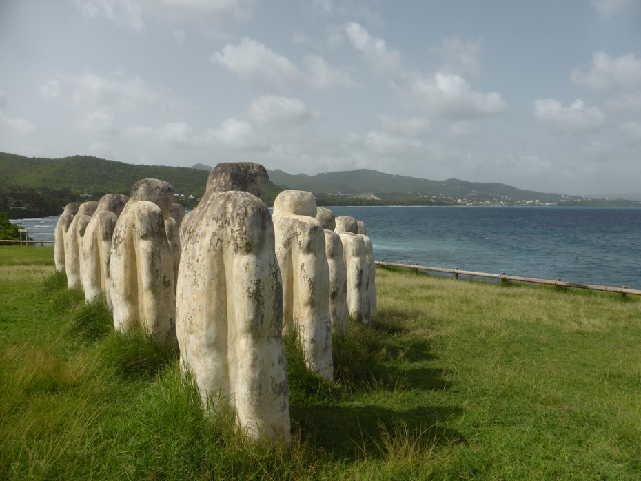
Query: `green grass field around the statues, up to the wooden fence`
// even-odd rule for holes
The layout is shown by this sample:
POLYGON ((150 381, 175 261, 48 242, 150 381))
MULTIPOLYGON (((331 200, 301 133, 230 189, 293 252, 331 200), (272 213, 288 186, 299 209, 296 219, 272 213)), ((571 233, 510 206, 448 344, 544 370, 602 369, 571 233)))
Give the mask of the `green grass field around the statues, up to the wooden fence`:
POLYGON ((641 299, 377 270, 337 381, 287 339, 294 441, 205 418, 177 354, 0 247, 0 479, 641 479, 641 299))

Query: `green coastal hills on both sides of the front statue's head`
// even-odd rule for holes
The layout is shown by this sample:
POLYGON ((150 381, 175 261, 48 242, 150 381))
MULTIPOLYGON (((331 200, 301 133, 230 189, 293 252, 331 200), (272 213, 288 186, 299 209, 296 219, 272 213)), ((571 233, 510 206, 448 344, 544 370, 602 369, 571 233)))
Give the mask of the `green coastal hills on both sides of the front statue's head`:
MULTIPOLYGON (((0 210, 10 218, 59 215, 73 201, 103 194, 129 194, 141 178, 159 178, 174 187, 176 202, 193 209, 205 192, 210 166, 132 165, 93 156, 30 158, 0 152, 0 210)), ((520 190, 501 183, 450 178, 430 181, 376 170, 327 172, 307 176, 268 170, 267 205, 286 189, 313 192, 318 205, 567 205, 639 207, 638 201, 587 198, 520 190)))

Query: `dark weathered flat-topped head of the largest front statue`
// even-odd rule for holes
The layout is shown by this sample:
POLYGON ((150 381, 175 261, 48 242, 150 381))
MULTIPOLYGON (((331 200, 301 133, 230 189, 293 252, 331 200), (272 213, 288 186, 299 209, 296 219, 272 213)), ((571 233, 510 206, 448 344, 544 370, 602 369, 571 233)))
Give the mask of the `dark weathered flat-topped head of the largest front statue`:
POLYGON ((207 192, 241 190, 267 202, 269 175, 261 164, 253 162, 223 162, 212 169, 207 178, 207 192))

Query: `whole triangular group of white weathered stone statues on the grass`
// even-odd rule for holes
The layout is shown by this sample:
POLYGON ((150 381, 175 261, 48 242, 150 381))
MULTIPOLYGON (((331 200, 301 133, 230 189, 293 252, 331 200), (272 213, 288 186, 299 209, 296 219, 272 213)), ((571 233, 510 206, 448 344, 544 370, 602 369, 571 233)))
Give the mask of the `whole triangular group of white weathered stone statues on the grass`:
POLYGON ((205 405, 220 396, 250 436, 288 440, 283 335, 331 380, 332 331, 376 316, 374 255, 364 223, 298 190, 270 215, 268 194, 262 165, 221 163, 185 216, 169 183, 143 179, 129 197, 67 205, 54 258, 88 302, 105 295, 115 329, 177 344, 205 405))

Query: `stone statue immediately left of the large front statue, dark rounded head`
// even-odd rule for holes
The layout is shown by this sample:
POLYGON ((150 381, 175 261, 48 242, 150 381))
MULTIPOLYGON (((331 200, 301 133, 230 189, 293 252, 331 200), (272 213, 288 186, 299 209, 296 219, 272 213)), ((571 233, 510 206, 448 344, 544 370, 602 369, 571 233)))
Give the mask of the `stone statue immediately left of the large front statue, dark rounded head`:
POLYGON ((176 342, 174 269, 165 232, 173 198, 170 183, 137 182, 116 221, 110 259, 114 327, 141 325, 165 345, 176 342))

